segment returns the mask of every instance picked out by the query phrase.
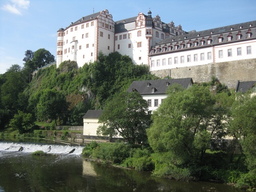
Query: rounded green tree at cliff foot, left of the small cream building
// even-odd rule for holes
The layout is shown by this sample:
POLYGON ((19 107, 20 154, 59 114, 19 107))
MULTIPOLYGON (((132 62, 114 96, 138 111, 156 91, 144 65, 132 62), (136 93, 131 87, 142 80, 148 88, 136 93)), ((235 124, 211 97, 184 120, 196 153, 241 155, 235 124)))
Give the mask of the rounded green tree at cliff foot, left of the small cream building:
POLYGON ((54 119, 57 125, 57 119, 59 119, 60 124, 60 120, 67 114, 68 103, 65 95, 61 92, 56 89, 46 89, 40 96, 36 108, 39 120, 54 119))

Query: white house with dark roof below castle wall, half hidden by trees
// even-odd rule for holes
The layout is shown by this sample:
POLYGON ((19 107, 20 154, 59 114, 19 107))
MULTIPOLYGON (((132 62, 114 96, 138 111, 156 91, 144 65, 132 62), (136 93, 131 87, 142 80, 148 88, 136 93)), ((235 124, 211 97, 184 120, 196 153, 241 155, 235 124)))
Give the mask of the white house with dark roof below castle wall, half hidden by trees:
POLYGON ((137 91, 147 101, 148 110, 154 111, 167 97, 166 90, 173 84, 180 84, 185 89, 193 85, 192 78, 182 79, 163 79, 163 80, 144 80, 133 81, 127 92, 137 91))

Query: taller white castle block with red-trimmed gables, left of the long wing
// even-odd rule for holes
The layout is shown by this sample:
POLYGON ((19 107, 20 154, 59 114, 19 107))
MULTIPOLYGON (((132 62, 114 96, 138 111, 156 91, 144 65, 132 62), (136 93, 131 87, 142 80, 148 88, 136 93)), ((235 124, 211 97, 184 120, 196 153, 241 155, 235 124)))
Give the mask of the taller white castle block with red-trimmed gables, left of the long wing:
POLYGON ((136 64, 150 63, 150 50, 165 38, 182 35, 182 27, 165 24, 160 16, 137 16, 114 22, 108 10, 84 16, 66 29, 57 31, 57 67, 62 61, 77 61, 78 67, 97 60, 99 52, 108 55, 118 51, 136 64))

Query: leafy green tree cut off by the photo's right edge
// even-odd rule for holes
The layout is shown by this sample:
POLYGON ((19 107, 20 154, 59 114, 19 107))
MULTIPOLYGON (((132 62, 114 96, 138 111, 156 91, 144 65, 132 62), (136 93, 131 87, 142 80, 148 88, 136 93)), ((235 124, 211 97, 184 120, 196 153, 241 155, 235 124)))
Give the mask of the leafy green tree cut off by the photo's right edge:
POLYGON ((233 105, 232 136, 242 147, 249 170, 256 172, 256 96, 239 95, 233 105))

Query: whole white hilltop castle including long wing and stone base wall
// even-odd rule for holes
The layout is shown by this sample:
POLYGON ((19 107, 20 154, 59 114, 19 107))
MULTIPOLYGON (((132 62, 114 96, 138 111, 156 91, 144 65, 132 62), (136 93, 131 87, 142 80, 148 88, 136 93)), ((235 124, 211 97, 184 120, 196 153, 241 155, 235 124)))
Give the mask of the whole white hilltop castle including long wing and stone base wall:
POLYGON ((215 75, 229 87, 239 79, 256 78, 256 20, 185 32, 181 25, 152 17, 151 11, 114 22, 104 10, 81 17, 57 34, 57 67, 65 60, 82 67, 96 61, 99 52, 118 51, 160 77, 192 77, 200 82, 215 75))

